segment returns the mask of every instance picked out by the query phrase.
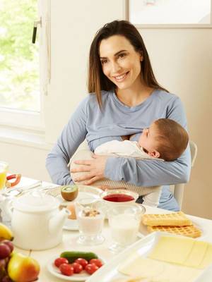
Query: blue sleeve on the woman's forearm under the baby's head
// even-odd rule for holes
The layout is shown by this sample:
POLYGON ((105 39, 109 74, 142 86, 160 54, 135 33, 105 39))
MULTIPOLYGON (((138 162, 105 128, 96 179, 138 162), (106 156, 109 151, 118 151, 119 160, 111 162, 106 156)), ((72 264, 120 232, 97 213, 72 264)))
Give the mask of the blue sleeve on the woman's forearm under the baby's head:
POLYGON ((108 158, 105 177, 112 180, 125 180, 140 186, 170 185, 187 183, 190 175, 190 150, 176 161, 136 160, 108 158))

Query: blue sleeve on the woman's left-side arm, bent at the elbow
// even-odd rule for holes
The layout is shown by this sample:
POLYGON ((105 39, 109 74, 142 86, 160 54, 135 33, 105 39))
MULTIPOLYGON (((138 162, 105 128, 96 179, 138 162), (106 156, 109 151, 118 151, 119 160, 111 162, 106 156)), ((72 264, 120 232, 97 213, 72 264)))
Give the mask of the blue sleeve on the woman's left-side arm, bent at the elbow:
POLYGON ((84 99, 47 156, 46 168, 53 183, 59 185, 72 183, 67 165, 78 146, 85 140, 86 134, 86 99, 84 99))

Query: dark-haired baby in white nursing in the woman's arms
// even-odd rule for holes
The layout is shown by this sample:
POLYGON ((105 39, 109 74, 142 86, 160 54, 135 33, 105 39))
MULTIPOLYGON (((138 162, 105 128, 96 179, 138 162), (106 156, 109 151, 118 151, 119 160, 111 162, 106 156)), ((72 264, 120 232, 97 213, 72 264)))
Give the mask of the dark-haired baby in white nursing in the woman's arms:
POLYGON ((112 140, 95 149, 95 154, 137 159, 162 159, 175 161, 187 148, 187 131, 168 118, 160 118, 143 129, 139 142, 112 140))

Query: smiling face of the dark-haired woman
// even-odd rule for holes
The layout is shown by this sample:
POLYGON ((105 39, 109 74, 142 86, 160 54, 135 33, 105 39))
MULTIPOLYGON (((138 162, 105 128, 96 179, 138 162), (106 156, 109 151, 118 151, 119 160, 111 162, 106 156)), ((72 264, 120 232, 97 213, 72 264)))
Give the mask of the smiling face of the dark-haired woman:
POLYGON ((100 42, 102 71, 120 90, 141 83, 143 56, 135 51, 122 35, 113 35, 100 42))

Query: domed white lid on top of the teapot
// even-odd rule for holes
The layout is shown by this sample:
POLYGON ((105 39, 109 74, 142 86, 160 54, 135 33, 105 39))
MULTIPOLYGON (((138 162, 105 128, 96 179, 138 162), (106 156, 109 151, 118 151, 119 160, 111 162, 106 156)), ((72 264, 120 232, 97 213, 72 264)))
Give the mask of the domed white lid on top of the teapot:
POLYGON ((59 200, 37 190, 18 197, 13 207, 23 212, 47 212, 59 207, 59 200))

